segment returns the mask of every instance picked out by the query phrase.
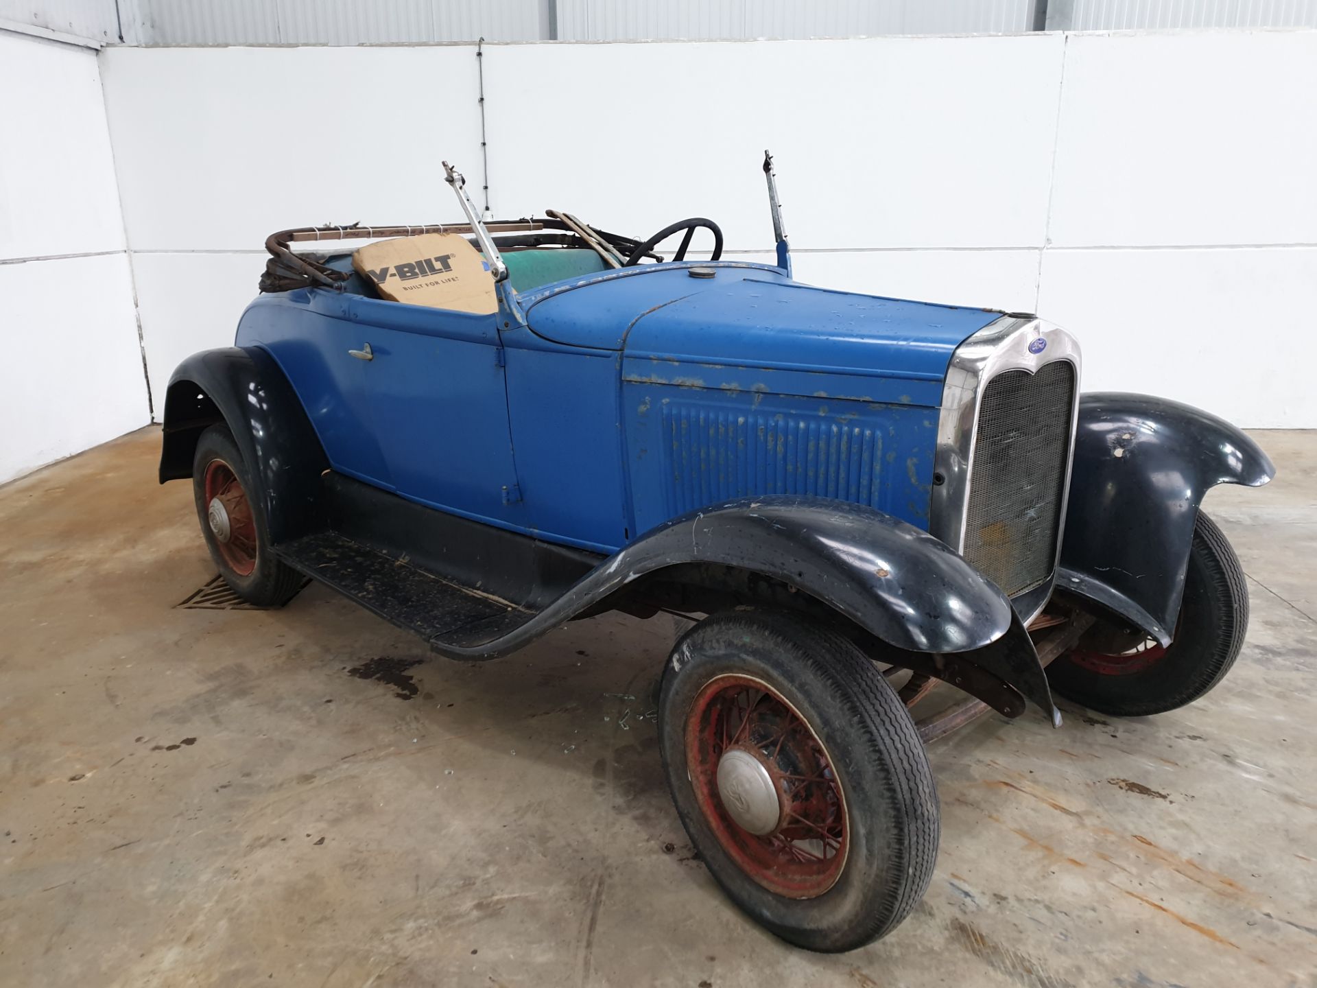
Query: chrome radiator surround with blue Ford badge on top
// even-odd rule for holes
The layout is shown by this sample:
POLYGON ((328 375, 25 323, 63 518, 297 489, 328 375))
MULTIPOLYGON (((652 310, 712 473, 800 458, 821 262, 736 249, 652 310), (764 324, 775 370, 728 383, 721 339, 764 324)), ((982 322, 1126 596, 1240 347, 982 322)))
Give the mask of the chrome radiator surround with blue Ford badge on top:
MULTIPOLYGON (((1039 368, 1058 360, 1068 360, 1075 368, 1075 402, 1071 408, 1069 447, 1058 515, 1052 581, 1056 578, 1062 541, 1065 535, 1065 508, 1069 501, 1071 468, 1075 462, 1075 429, 1079 424, 1081 356, 1075 337, 1051 323, 1034 316, 1001 316, 960 344, 951 356, 947 379, 942 389, 942 410, 938 416, 938 448, 934 456, 934 486, 928 524, 931 535, 942 539, 956 552, 964 552, 969 485, 973 482, 971 468, 984 387, 992 378, 1006 370, 1026 370, 1035 374, 1039 368), (1038 346, 1036 340, 1043 341, 1042 348, 1038 346), (938 477, 942 478, 940 483, 938 483, 938 477)), ((1047 603, 1051 585, 1046 586, 1048 586, 1047 594, 1040 594, 1040 588, 1019 594, 1019 602, 1026 609, 1033 610, 1033 614, 1019 615, 1025 623, 1033 619, 1047 603)))

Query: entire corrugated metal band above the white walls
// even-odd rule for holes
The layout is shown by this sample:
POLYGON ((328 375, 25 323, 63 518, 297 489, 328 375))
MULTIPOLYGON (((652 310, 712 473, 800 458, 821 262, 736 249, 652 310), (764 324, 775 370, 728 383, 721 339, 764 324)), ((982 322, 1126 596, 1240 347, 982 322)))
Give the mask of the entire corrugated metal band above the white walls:
MULTIPOLYGON (((1042 0, 0 0, 0 21, 129 45, 693 41, 1019 33, 1042 0)), ((1048 0, 1048 30, 1317 26, 1317 0, 1048 0)))

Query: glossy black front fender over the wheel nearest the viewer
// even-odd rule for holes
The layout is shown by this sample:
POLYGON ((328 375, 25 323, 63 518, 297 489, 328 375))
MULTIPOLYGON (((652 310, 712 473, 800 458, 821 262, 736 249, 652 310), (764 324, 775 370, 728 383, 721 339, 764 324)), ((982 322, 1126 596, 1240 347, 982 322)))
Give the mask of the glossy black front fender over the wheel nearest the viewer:
MULTIPOLYGON (((666 522, 599 563, 547 609, 511 631, 494 623, 431 644, 454 659, 493 659, 647 576, 711 564, 778 580, 890 645, 876 655, 943 676, 951 661, 985 671, 994 684, 1033 700, 1050 717, 1047 677, 1010 602, 946 543, 863 505, 823 498, 763 497, 712 505, 666 522), (954 657, 954 659, 952 659, 954 657)), ((1018 715, 1022 702, 997 701, 1018 715)))

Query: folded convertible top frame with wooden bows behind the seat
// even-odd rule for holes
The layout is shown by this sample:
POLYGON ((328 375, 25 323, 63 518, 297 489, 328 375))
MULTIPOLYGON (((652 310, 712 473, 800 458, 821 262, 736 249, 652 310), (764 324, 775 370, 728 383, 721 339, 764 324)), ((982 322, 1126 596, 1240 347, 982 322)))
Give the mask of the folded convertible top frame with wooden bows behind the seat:
MULTIPOLYGON (((485 228, 495 234, 494 242, 497 246, 533 246, 535 244, 524 242, 527 238, 515 237, 508 238, 515 242, 502 242, 503 238, 499 233, 533 233, 535 231, 565 231, 573 237, 578 238, 577 232, 565 221, 556 217, 527 217, 520 220, 494 220, 486 223, 485 228)), ((623 237, 616 233, 607 233, 598 227, 591 227, 595 233, 605 238, 610 245, 615 246, 623 256, 631 254, 639 245, 640 241, 631 240, 630 237, 623 237)), ((342 282, 352 277, 349 271, 336 271, 332 267, 327 267, 324 263, 317 261, 315 257, 308 257, 306 254, 296 254, 290 248, 290 244, 306 244, 306 242, 331 242, 335 240, 375 240, 379 237, 414 237, 421 233, 460 233, 470 234, 473 233, 471 225, 469 223, 429 223, 417 227, 408 227, 402 224, 395 224, 392 227, 362 227, 360 223, 353 223, 349 227, 299 227, 296 229, 283 229, 271 233, 266 237, 265 249, 270 253, 270 260, 266 261, 265 274, 261 275, 261 291, 292 291, 294 288, 308 288, 316 285, 321 285, 328 288, 342 288, 342 282)), ((545 242, 558 244, 560 237, 545 237, 545 242)), ((585 240, 579 241, 579 246, 590 248, 591 245, 585 240)), ((656 260, 662 260, 657 254, 649 254, 656 260)))

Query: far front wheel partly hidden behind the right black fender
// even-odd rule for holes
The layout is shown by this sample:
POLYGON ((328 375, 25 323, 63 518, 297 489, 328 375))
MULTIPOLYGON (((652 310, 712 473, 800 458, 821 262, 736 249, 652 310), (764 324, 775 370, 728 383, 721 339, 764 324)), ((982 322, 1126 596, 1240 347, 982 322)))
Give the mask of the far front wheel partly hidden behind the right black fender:
POLYGON ((1047 678, 1063 697, 1102 714, 1162 714, 1221 682, 1247 630, 1243 568, 1216 522, 1200 511, 1171 644, 1098 626, 1047 667, 1047 678))

